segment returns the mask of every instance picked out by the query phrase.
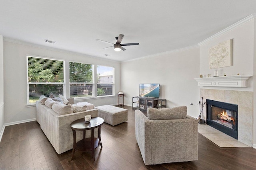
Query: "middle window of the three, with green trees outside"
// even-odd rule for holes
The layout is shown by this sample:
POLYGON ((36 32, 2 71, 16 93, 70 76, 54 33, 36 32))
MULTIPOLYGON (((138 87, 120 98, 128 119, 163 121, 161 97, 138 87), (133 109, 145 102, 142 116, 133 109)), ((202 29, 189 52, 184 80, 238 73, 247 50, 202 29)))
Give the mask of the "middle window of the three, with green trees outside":
POLYGON ((92 64, 69 62, 71 98, 94 96, 93 70, 92 64))

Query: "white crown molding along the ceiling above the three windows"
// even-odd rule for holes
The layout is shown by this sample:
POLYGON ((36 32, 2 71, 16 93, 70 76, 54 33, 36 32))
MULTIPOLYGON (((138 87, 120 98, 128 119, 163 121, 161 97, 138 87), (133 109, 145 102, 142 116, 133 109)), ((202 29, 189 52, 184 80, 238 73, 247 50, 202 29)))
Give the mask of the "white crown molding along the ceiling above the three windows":
POLYGON ((11 38, 7 38, 7 37, 4 37, 3 40, 7 41, 7 42, 10 42, 10 43, 20 44, 20 45, 27 45, 27 46, 31 46, 31 47, 57 51, 57 52, 61 52, 61 53, 68 53, 68 54, 71 54, 71 55, 79 55, 79 56, 82 56, 82 57, 90 57, 90 58, 94 58, 94 59, 98 59, 98 60, 102 60, 102 61, 111 61, 111 62, 115 62, 115 63, 120 63, 120 61, 104 59, 104 58, 100 58, 100 57, 96 57, 96 56, 92 56, 92 55, 76 53, 76 52, 73 52, 73 51, 68 51, 68 50, 63 50, 63 49, 56 49, 56 48, 53 48, 53 47, 47 47, 47 46, 44 46, 44 45, 28 43, 28 42, 25 42, 25 41, 21 41, 21 40, 17 40, 17 39, 11 39, 11 38))

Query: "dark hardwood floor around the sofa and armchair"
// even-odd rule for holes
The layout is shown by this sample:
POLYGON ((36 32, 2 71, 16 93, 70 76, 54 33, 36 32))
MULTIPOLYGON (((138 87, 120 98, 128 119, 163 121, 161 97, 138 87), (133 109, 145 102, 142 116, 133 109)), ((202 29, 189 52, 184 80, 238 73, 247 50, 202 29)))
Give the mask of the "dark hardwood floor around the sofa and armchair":
MULTIPOLYGON (((116 126, 102 125, 103 147, 91 152, 72 150, 57 154, 36 121, 7 126, 0 143, 0 170, 252 170, 256 169, 256 149, 221 149, 198 134, 197 161, 144 165, 135 139, 134 110, 128 109, 128 121, 116 126)), ((70 129, 71 130, 71 129, 70 129)))

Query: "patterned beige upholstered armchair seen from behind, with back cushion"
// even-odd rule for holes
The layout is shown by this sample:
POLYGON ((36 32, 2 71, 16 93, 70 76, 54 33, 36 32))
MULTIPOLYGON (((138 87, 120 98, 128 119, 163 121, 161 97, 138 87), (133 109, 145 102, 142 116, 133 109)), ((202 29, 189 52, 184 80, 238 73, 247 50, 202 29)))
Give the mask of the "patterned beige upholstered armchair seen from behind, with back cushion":
POLYGON ((144 163, 198 160, 198 120, 187 107, 135 110, 135 135, 144 163))

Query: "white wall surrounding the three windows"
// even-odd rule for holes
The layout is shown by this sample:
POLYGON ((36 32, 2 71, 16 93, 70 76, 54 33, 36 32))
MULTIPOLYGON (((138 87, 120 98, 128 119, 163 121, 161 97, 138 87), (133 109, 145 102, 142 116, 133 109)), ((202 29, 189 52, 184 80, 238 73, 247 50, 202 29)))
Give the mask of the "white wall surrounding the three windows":
MULTIPOLYGON (((69 80, 69 61, 101 64, 115 68, 115 92, 120 90, 120 63, 101 60, 97 57, 78 55, 44 47, 35 47, 28 43, 20 43, 4 39, 4 123, 34 119, 36 108, 26 107, 26 55, 36 55, 66 61, 66 80, 69 80)), ((69 97, 68 84, 66 86, 67 98, 69 97)), ((98 98, 86 100, 95 106, 103 104, 116 104, 117 97, 98 98)))

